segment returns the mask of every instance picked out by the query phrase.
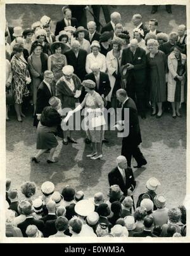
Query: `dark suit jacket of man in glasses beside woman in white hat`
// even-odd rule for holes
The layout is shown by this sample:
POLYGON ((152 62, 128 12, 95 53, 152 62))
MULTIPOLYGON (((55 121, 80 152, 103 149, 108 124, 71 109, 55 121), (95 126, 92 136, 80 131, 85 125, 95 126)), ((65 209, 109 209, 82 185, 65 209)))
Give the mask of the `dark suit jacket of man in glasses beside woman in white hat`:
POLYGON ((53 86, 51 86, 51 91, 52 94, 50 93, 44 81, 42 81, 37 90, 36 114, 41 114, 44 107, 49 106, 49 99, 54 96, 53 86))

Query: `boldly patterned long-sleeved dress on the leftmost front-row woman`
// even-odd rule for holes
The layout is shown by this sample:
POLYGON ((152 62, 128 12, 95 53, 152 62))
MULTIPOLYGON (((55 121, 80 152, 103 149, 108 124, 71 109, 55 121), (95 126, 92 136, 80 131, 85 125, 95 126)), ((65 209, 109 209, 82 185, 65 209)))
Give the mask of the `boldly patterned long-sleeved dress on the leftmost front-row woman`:
POLYGON ((13 56, 11 60, 11 69, 13 71, 13 93, 16 104, 22 104, 23 95, 28 91, 26 86, 26 77, 29 76, 28 64, 21 57, 13 56))

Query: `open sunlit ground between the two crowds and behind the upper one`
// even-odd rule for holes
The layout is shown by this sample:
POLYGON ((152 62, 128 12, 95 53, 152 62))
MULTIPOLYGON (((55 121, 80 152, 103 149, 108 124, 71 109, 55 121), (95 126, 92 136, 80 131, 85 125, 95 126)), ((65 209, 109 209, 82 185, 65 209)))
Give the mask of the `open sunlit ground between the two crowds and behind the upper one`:
MULTIPOLYGON (((156 15, 150 15, 151 6, 118 6, 127 29, 132 30, 130 18, 134 13, 142 13, 144 21, 149 17, 158 18, 160 30, 170 32, 177 25, 184 24, 185 10, 183 6, 173 6, 173 14, 165 12, 161 6, 156 15), (181 13, 181 15, 179 15, 181 13)), ((115 9, 113 9, 115 10, 115 9)), ((39 20, 42 15, 50 16, 53 21, 61 18, 60 6, 11 4, 6 8, 6 18, 10 25, 30 27, 32 22, 39 20), (30 10, 30 11, 29 11, 30 10), (18 18, 19 17, 19 18, 18 18)), ((182 203, 186 194, 186 110, 183 107, 183 118, 172 119, 171 114, 165 113, 163 118, 156 119, 148 116, 141 121, 143 137, 142 151, 148 165, 146 168, 134 170, 137 180, 135 199, 145 189, 146 180, 156 177, 161 182, 158 192, 167 197, 167 206, 177 206, 182 203)), ((27 118, 23 123, 16 122, 15 112, 10 114, 11 122, 6 125, 6 176, 12 179, 12 186, 19 189, 22 182, 34 181, 40 194, 42 182, 51 180, 56 189, 61 191, 66 184, 82 189, 86 197, 97 191, 108 193, 107 175, 115 167, 115 158, 120 154, 121 141, 115 132, 108 132, 106 137, 110 143, 103 146, 104 157, 101 161, 92 161, 85 158, 91 152, 90 146, 85 145, 84 132, 76 131, 75 138, 78 144, 62 145, 61 140, 56 150, 60 161, 54 165, 46 163, 47 154, 36 165, 30 162, 34 156, 35 128, 32 126, 32 110, 26 111, 27 118)))

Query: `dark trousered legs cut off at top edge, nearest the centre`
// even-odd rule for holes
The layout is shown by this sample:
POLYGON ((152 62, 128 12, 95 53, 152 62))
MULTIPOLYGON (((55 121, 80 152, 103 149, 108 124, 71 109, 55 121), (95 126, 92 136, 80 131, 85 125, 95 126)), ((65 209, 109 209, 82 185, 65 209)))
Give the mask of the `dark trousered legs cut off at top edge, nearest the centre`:
POLYGON ((92 5, 92 11, 94 13, 94 16, 96 19, 94 19, 94 22, 96 22, 96 30, 100 30, 100 24, 99 24, 99 15, 100 15, 100 10, 103 10, 103 14, 105 16, 105 21, 106 24, 110 22, 110 6, 108 5, 92 5))

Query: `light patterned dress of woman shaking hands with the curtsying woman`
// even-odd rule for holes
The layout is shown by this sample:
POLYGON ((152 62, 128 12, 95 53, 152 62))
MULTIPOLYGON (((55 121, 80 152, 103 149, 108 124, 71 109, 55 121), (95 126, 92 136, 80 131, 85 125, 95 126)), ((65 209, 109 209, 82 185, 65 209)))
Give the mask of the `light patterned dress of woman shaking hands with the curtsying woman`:
MULTIPOLYGON (((85 117, 87 117, 87 112, 89 110, 95 110, 95 109, 101 109, 103 108, 103 99, 101 98, 101 96, 99 95, 99 93, 97 93, 96 91, 94 91, 94 93, 92 93, 92 95, 90 93, 87 93, 85 95, 85 117)), ((96 112, 96 116, 100 115, 102 113, 98 113, 96 112)), ((92 118, 93 115, 88 115, 88 122, 87 125, 89 127, 91 127, 91 122, 92 122, 92 118)), ((98 128, 90 128, 87 129, 86 131, 87 133, 87 137, 90 138, 91 142, 102 142, 102 140, 104 139, 104 130, 103 130, 103 126, 100 126, 98 128)))

